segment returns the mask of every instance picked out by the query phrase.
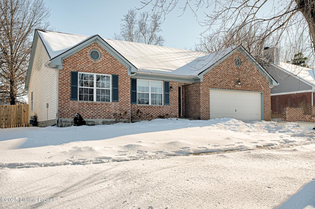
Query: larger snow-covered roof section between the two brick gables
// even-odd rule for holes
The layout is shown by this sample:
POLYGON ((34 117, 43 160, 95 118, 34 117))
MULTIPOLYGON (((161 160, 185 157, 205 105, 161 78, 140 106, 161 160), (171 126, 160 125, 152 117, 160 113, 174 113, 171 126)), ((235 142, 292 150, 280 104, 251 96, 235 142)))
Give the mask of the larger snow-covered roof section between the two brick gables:
POLYGON ((232 48, 217 53, 193 52, 148 44, 105 39, 140 72, 197 76, 220 60, 232 48))

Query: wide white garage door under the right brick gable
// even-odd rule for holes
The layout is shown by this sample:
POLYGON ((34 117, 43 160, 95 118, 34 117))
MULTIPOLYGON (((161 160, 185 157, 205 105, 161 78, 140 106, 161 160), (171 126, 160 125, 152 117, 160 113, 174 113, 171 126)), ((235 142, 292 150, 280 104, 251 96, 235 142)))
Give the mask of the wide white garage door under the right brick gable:
POLYGON ((214 118, 260 121, 261 93, 210 89, 210 119, 214 118))

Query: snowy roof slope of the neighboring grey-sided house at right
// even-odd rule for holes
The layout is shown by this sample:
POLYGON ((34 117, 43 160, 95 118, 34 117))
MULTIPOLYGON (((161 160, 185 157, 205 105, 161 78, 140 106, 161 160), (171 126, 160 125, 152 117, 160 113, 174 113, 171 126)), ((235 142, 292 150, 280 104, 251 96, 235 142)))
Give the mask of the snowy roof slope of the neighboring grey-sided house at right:
POLYGON ((278 66, 288 71, 289 73, 315 85, 315 70, 314 69, 301 67, 298 65, 293 65, 293 64, 289 64, 285 62, 280 62, 278 66))

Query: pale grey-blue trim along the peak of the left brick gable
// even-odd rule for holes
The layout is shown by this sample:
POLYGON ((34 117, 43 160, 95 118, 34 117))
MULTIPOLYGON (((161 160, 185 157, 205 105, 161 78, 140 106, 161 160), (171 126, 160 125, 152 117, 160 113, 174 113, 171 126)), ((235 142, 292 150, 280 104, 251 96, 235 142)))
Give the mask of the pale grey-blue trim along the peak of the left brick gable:
POLYGON ((68 56, 79 52, 80 50, 84 49, 85 47, 88 47, 89 45, 96 42, 99 44, 104 50, 109 52, 112 56, 114 56, 118 61, 120 61, 128 70, 128 75, 131 73, 136 73, 137 68, 132 65, 124 56, 122 56, 119 52, 117 52, 114 48, 112 48, 106 41, 104 41, 99 35, 92 36, 90 39, 85 40, 82 43, 79 43, 78 45, 74 46, 73 48, 69 49, 66 52, 63 52, 62 54, 52 58, 49 64, 50 67, 56 68, 56 69, 63 69, 63 59, 67 58, 68 56))

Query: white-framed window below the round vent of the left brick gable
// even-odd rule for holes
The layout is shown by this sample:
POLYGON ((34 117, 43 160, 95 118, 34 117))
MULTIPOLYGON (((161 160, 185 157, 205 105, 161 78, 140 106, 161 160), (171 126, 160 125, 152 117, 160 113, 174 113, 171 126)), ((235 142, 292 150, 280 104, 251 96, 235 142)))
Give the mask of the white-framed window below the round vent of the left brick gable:
POLYGON ((79 101, 111 102, 111 75, 79 73, 79 101))

